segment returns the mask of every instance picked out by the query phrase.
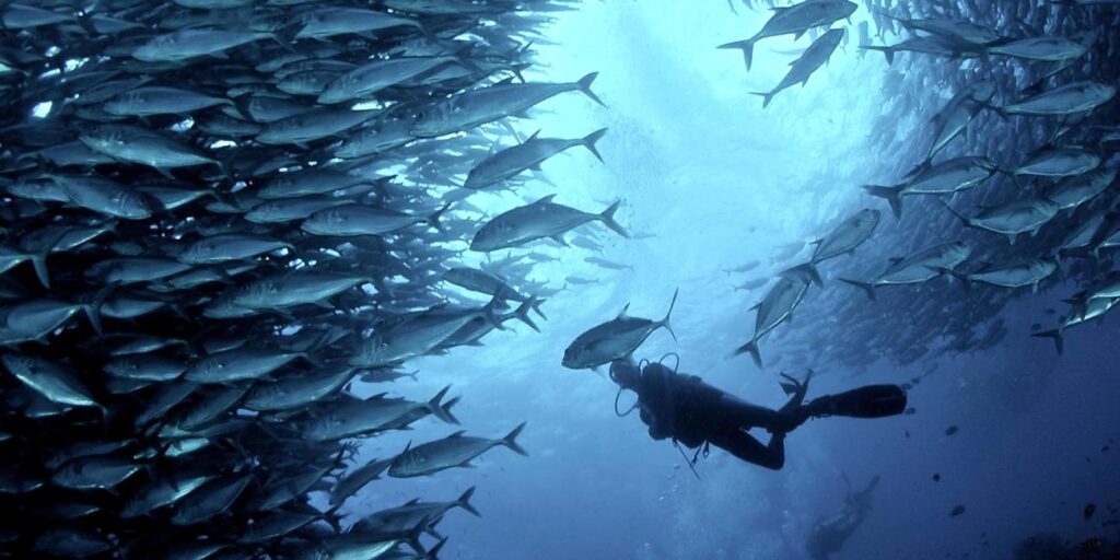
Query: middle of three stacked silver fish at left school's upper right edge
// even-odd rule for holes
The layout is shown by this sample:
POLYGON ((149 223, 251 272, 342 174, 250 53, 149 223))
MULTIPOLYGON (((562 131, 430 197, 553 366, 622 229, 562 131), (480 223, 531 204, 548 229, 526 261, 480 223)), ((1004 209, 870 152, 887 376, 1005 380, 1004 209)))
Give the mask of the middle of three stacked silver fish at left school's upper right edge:
POLYGON ((540 131, 534 132, 524 142, 501 150, 480 161, 467 174, 463 186, 475 189, 485 188, 512 179, 525 169, 540 170, 540 165, 544 160, 576 146, 587 148, 596 159, 603 161, 603 156, 599 155, 595 143, 603 139, 607 129, 599 129, 584 138, 572 140, 538 138, 539 133, 540 131))

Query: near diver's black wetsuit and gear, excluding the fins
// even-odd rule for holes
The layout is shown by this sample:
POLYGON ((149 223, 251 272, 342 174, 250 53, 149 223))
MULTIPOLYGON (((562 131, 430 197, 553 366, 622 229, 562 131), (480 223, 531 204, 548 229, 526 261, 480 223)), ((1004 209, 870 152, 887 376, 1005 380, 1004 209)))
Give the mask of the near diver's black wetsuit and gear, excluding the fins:
POLYGON ((785 465, 786 432, 808 418, 796 412, 800 407, 780 412, 750 404, 696 375, 674 373, 656 363, 638 373, 636 365, 619 361, 612 364, 610 371, 616 381, 634 380, 620 384, 637 393, 640 416, 653 439, 671 437, 690 448, 707 441, 739 459, 775 470, 785 465), (750 428, 769 430, 769 445, 748 433, 750 428))

